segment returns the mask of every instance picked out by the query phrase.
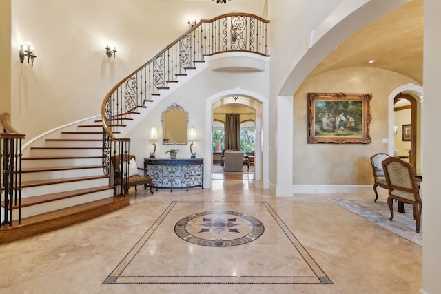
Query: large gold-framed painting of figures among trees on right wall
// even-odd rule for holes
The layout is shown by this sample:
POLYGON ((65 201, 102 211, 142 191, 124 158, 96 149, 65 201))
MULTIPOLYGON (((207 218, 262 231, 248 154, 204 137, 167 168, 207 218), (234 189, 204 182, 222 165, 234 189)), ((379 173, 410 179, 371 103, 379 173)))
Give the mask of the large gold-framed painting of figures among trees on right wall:
POLYGON ((308 143, 371 143, 372 94, 308 93, 308 143))

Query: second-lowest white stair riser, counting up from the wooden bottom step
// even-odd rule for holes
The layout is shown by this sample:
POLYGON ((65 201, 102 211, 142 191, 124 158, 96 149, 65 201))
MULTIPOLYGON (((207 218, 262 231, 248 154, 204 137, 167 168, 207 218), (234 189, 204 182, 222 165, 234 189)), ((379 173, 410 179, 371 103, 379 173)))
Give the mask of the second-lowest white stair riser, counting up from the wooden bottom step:
POLYGON ((58 193, 63 191, 72 191, 78 189, 87 189, 109 185, 108 178, 99 178, 93 180, 81 180, 77 182, 63 182, 53 185, 42 185, 35 187, 24 187, 21 191, 21 197, 40 196, 50 193, 58 193))

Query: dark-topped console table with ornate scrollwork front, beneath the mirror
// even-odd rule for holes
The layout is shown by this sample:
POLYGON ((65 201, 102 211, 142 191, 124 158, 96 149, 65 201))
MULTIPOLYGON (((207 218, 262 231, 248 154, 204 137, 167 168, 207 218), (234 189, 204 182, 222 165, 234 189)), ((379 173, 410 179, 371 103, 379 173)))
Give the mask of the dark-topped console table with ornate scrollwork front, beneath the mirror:
POLYGON ((173 189, 201 187, 204 189, 204 160, 144 158, 144 168, 158 188, 173 189))

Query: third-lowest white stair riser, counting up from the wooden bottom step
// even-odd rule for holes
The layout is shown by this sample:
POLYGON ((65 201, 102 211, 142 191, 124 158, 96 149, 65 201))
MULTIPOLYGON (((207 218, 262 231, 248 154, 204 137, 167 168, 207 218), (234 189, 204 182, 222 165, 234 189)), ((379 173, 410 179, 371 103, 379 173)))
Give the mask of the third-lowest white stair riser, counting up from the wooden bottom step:
POLYGON ((79 178, 85 176, 103 176, 103 169, 70 169, 65 171, 39 171, 32 173, 22 173, 21 181, 28 182, 31 180, 52 180, 56 178, 79 178))

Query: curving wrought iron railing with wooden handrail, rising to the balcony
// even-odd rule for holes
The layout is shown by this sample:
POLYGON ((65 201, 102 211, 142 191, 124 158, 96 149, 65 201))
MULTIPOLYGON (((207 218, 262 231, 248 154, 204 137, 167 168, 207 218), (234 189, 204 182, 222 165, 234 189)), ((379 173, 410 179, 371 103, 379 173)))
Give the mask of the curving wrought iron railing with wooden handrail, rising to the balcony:
MULTIPOLYGON (((177 83, 179 76, 196 68, 204 56, 222 52, 250 52, 267 55, 267 24, 269 21, 253 14, 223 14, 209 20, 201 20, 180 36, 150 61, 117 83, 104 98, 101 106, 103 123, 103 169, 110 173, 110 157, 123 156, 130 150, 129 138, 118 138, 118 127, 124 125, 129 116, 145 108, 147 103, 167 90, 170 83, 177 83)), ((123 160, 120 160, 120 170, 123 160)), ((121 173, 123 185, 126 176, 121 173)), ((123 195, 124 187, 115 187, 123 195)))

